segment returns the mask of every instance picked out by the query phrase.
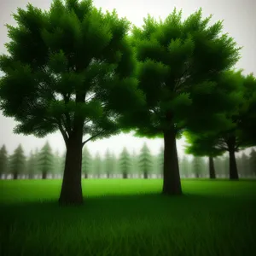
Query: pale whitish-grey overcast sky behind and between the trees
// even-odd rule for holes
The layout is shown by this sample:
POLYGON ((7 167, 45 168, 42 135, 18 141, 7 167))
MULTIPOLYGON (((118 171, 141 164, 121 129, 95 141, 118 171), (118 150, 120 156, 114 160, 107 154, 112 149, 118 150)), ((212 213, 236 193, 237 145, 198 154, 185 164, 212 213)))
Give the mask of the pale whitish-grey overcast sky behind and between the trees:
MULTIPOLYGON (((0 54, 6 53, 4 44, 9 41, 7 37, 7 28, 5 24, 15 26, 15 20, 12 13, 16 13, 17 8, 26 8, 27 3, 32 3, 41 9, 49 9, 51 0, 0 0, 0 54)), ((97 8, 103 11, 113 9, 117 10, 119 17, 126 17, 136 26, 143 25, 143 18, 148 14, 154 18, 159 17, 163 20, 172 13, 176 7, 183 9, 183 19, 202 8, 202 15, 212 16, 212 23, 218 20, 224 20, 224 32, 229 32, 232 38, 235 38, 241 49, 241 60, 236 64, 237 68, 243 68, 244 73, 254 73, 256 75, 256 1, 255 0, 94 0, 97 8)), ((1 73, 0 73, 1 76, 1 73)), ((6 118, 0 111, 0 147, 3 143, 6 145, 9 153, 15 150, 19 143, 22 144, 26 155, 30 150, 42 148, 46 141, 49 141, 53 150, 60 153, 65 150, 65 143, 61 133, 57 132, 44 138, 17 135, 13 133, 15 120, 6 118)), ((86 137, 85 137, 86 138, 86 137)), ((108 139, 98 140, 87 143, 92 154, 99 152, 105 154, 109 148, 114 154, 119 154, 122 148, 126 147, 130 153, 138 153, 143 143, 148 144, 152 154, 158 154, 163 145, 162 139, 147 139, 132 137, 132 134, 121 134, 108 139)), ((177 140, 177 151, 183 156, 184 139, 177 140)), ((249 150, 245 150, 248 154, 249 150)))

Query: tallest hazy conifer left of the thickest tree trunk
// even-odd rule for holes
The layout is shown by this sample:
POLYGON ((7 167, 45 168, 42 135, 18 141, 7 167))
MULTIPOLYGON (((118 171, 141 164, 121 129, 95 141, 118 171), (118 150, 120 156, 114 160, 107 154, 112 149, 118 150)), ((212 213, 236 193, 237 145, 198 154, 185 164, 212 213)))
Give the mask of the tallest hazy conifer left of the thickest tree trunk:
POLYGON ((46 142, 39 153, 38 171, 42 175, 42 179, 46 179, 48 173, 54 168, 54 158, 49 143, 46 142))

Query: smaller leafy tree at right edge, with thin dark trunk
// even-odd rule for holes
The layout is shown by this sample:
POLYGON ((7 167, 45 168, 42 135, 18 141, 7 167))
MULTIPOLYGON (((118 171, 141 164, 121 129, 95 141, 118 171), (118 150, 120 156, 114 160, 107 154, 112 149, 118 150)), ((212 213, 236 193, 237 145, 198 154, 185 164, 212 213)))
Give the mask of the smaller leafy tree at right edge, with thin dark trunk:
POLYGON ((224 88, 225 93, 230 97, 236 95, 234 97, 234 99, 236 98, 236 108, 225 111, 221 115, 223 123, 225 119, 230 119, 231 125, 220 125, 220 129, 210 133, 186 133, 190 143, 188 152, 209 157, 228 152, 230 157, 230 179, 238 179, 235 153, 256 144, 250 131, 251 125, 247 124, 256 122, 256 116, 251 113, 254 107, 256 79, 252 74, 242 75, 241 70, 237 72, 230 70, 219 75, 218 84, 224 88), (252 136, 250 137, 248 134, 252 136))

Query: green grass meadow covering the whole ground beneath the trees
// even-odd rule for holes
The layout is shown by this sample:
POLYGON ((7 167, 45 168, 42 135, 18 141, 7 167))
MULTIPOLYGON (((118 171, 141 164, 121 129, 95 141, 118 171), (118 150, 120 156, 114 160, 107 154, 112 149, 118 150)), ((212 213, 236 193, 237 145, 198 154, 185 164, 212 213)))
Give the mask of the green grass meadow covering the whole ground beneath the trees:
POLYGON ((256 181, 83 180, 84 205, 59 207, 60 180, 0 181, 0 255, 249 256, 256 181))

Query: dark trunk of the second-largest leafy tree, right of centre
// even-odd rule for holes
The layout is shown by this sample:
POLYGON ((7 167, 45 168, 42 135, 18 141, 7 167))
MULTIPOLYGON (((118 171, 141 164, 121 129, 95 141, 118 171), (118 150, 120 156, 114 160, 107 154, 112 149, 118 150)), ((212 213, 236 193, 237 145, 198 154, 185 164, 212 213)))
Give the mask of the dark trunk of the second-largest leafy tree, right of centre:
POLYGON ((164 143, 164 180, 162 193, 164 195, 182 195, 174 129, 164 132, 164 143))

